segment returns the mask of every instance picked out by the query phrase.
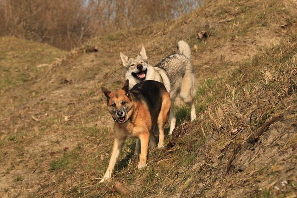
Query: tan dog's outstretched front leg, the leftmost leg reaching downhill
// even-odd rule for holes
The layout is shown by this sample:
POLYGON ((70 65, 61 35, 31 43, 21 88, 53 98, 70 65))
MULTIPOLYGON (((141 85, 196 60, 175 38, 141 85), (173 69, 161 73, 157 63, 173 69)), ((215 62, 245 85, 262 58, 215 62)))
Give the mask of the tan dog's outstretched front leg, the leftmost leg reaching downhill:
POLYGON ((124 146, 125 139, 126 139, 125 136, 117 136, 117 133, 115 133, 115 138, 114 138, 114 143, 113 143, 113 148, 112 148, 112 153, 111 153, 111 157, 109 160, 109 164, 108 164, 107 170, 100 182, 104 182, 104 181, 110 179, 111 173, 115 166, 116 159, 119 156, 119 154, 124 146))

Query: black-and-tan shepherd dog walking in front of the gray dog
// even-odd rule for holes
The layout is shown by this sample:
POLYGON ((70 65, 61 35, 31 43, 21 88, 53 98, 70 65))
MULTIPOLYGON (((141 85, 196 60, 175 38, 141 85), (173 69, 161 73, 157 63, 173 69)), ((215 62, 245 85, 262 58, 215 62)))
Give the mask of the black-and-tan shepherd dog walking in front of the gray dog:
POLYGON ((103 182, 111 177, 117 157, 127 137, 138 138, 135 153, 140 152, 138 168, 147 166, 148 142, 153 140, 153 126, 159 129, 158 148, 164 147, 164 125, 168 121, 171 100, 164 85, 157 81, 143 81, 129 90, 129 80, 120 90, 110 92, 104 87, 107 108, 114 119, 114 145, 103 182))

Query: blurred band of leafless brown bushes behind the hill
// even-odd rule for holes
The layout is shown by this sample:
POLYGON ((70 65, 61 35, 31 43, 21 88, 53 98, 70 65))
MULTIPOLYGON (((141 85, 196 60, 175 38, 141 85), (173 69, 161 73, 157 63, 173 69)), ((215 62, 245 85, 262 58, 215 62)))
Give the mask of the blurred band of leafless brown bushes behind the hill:
POLYGON ((187 13, 203 0, 0 0, 0 36, 62 49, 96 34, 141 27, 187 13))

